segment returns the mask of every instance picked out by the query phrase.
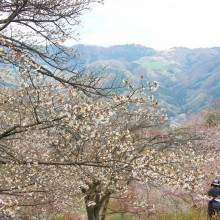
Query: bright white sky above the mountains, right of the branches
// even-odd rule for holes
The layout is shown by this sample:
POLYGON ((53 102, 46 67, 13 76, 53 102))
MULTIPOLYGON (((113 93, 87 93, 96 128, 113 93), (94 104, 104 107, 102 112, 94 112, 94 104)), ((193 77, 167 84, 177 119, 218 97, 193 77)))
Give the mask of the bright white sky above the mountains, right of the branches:
POLYGON ((220 47, 219 26, 220 0, 105 0, 84 13, 78 43, 220 47))

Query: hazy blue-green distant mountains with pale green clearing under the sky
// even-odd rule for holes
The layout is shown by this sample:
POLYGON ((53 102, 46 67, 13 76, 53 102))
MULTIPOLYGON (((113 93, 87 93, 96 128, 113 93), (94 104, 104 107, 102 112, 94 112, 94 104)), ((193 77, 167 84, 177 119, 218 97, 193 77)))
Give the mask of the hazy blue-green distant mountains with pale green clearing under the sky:
POLYGON ((170 116, 195 112, 220 97, 220 48, 172 48, 157 51, 141 45, 75 45, 87 64, 109 65, 139 80, 157 80, 157 97, 170 116))

